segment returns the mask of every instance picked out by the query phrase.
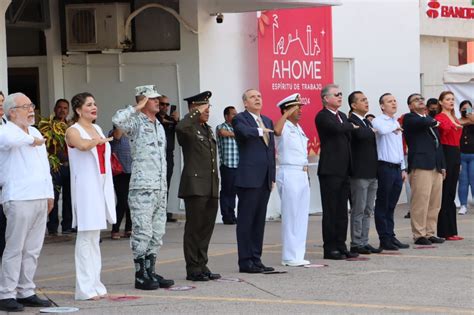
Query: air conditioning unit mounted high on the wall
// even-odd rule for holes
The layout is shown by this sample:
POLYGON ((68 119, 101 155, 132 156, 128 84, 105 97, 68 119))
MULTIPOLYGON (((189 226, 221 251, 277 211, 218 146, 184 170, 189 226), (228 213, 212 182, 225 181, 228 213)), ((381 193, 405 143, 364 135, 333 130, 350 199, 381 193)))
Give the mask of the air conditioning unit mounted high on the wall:
POLYGON ((128 3, 66 5, 68 51, 107 51, 125 49, 125 21, 128 3))

